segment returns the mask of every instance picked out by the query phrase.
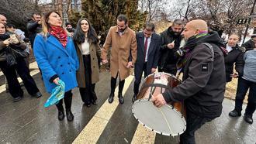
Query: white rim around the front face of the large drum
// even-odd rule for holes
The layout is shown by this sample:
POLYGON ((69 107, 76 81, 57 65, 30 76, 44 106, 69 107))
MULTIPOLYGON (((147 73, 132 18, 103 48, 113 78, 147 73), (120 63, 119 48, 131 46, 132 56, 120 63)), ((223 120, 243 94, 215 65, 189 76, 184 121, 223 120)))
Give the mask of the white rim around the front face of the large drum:
POLYGON ((182 118, 182 122, 184 123, 185 127, 184 129, 182 130, 182 132, 178 132, 178 134, 168 134, 168 133, 164 133, 164 132, 158 132, 156 131, 155 129, 151 129, 150 127, 148 127, 147 125, 145 125, 143 122, 140 121, 139 118, 137 118, 136 115, 134 115, 134 111, 133 111, 133 106, 136 104, 136 103, 139 103, 140 101, 150 101, 148 99, 138 99, 137 101, 134 101, 133 102, 133 105, 132 105, 132 113, 133 113, 133 116, 137 119, 138 122, 140 122, 141 125, 143 125, 144 127, 146 127, 147 129, 150 129, 151 131, 153 132, 156 132, 160 135, 167 135, 167 136, 178 136, 178 135, 181 135, 183 132, 185 132, 185 129, 187 128, 187 122, 185 121, 185 117, 182 115, 182 113, 180 111, 177 111, 176 108, 174 108, 172 105, 166 105, 168 106, 169 108, 171 108, 172 110, 174 110, 179 116, 181 116, 182 118))

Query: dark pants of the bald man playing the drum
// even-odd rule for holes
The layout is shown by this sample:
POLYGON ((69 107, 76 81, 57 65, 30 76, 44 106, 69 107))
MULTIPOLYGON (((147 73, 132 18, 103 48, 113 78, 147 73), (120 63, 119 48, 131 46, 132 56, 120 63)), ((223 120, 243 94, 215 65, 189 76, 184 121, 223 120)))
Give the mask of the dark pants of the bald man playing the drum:
POLYGON ((202 118, 198 115, 187 111, 187 128, 182 135, 180 135, 181 144, 195 144, 195 131, 200 129, 206 122, 212 121, 211 118, 202 118))

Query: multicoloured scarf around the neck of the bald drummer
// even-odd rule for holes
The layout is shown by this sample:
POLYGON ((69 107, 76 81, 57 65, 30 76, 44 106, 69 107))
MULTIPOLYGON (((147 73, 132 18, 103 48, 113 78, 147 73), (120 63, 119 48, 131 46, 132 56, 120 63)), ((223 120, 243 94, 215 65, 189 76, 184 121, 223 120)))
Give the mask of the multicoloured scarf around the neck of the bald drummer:
POLYGON ((182 47, 180 50, 177 51, 177 55, 179 57, 177 62, 177 69, 178 71, 182 71, 183 67, 185 67, 185 64, 187 63, 187 60, 189 56, 191 55, 192 50, 194 50, 193 46, 195 43, 193 43, 195 40, 197 40, 199 37, 206 36, 208 33, 206 31, 199 32, 198 35, 192 36, 188 39, 187 44, 182 47))

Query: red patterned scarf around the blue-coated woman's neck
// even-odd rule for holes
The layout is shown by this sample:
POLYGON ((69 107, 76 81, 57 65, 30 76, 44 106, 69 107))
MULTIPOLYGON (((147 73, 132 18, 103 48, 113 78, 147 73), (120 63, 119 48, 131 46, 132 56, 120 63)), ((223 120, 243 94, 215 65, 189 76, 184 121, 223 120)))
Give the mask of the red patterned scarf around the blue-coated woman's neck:
POLYGON ((50 26, 50 34, 56 37, 64 48, 67 46, 67 33, 61 26, 50 26))

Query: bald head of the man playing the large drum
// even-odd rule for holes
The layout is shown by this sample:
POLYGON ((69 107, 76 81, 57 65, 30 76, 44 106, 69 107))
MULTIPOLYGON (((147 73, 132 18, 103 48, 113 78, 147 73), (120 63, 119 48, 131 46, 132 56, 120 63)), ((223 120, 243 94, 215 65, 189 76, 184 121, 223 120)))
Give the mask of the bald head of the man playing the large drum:
POLYGON ((188 22, 185 25, 184 31, 182 32, 185 39, 189 39, 192 36, 197 36, 199 33, 208 33, 207 23, 202 19, 195 19, 188 22))

